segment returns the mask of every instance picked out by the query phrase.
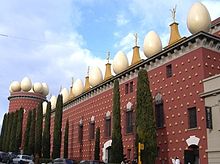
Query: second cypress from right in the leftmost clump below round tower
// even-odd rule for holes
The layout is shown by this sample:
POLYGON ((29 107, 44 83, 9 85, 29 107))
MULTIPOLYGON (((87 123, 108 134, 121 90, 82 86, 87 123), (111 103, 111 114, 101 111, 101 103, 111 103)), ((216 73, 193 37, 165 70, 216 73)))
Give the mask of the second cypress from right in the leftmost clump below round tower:
POLYGON ((11 129, 11 136, 10 136, 10 145, 9 151, 15 151, 16 145, 16 130, 17 130, 17 121, 18 121, 18 110, 14 113, 13 121, 12 121, 12 129, 11 129))

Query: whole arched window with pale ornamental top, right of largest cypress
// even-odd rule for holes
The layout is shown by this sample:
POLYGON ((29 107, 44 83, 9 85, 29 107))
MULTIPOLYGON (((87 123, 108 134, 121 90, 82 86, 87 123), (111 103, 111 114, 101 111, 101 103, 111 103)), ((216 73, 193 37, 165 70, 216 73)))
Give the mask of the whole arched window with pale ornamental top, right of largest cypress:
POLYGON ((155 117, 156 117, 156 126, 157 128, 164 127, 164 109, 163 109, 163 100, 162 95, 157 93, 155 96, 155 117))

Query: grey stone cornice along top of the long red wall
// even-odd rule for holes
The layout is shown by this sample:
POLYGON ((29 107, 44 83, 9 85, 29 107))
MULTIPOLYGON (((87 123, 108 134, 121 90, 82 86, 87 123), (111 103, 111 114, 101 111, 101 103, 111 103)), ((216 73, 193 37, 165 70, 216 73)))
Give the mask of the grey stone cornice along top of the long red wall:
POLYGON ((136 65, 129 66, 125 71, 111 77, 108 80, 103 81, 90 90, 83 92, 81 95, 66 102, 64 104, 64 110, 69 109, 83 101, 86 101, 93 96, 97 96, 103 91, 112 89, 114 80, 116 79, 118 79, 119 83, 122 84, 131 78, 137 77, 137 74, 141 69, 150 71, 201 47, 220 52, 220 38, 203 31, 184 38, 170 47, 165 47, 156 55, 146 60, 141 60, 136 65))

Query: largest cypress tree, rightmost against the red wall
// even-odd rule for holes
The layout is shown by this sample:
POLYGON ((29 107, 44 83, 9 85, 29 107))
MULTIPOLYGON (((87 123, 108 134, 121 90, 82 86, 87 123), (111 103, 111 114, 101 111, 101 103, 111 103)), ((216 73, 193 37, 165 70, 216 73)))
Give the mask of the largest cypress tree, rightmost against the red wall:
POLYGON ((144 144, 144 150, 141 153, 142 163, 154 164, 157 151, 156 125, 146 70, 140 70, 138 73, 136 131, 136 144, 138 142, 144 144))

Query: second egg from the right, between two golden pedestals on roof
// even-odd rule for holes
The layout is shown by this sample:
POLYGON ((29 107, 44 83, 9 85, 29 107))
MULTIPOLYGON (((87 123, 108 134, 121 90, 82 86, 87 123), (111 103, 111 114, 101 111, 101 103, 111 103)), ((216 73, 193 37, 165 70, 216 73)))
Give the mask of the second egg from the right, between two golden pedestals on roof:
POLYGON ((144 55, 146 57, 151 57, 162 50, 162 42, 159 35, 150 31, 144 38, 144 55))

